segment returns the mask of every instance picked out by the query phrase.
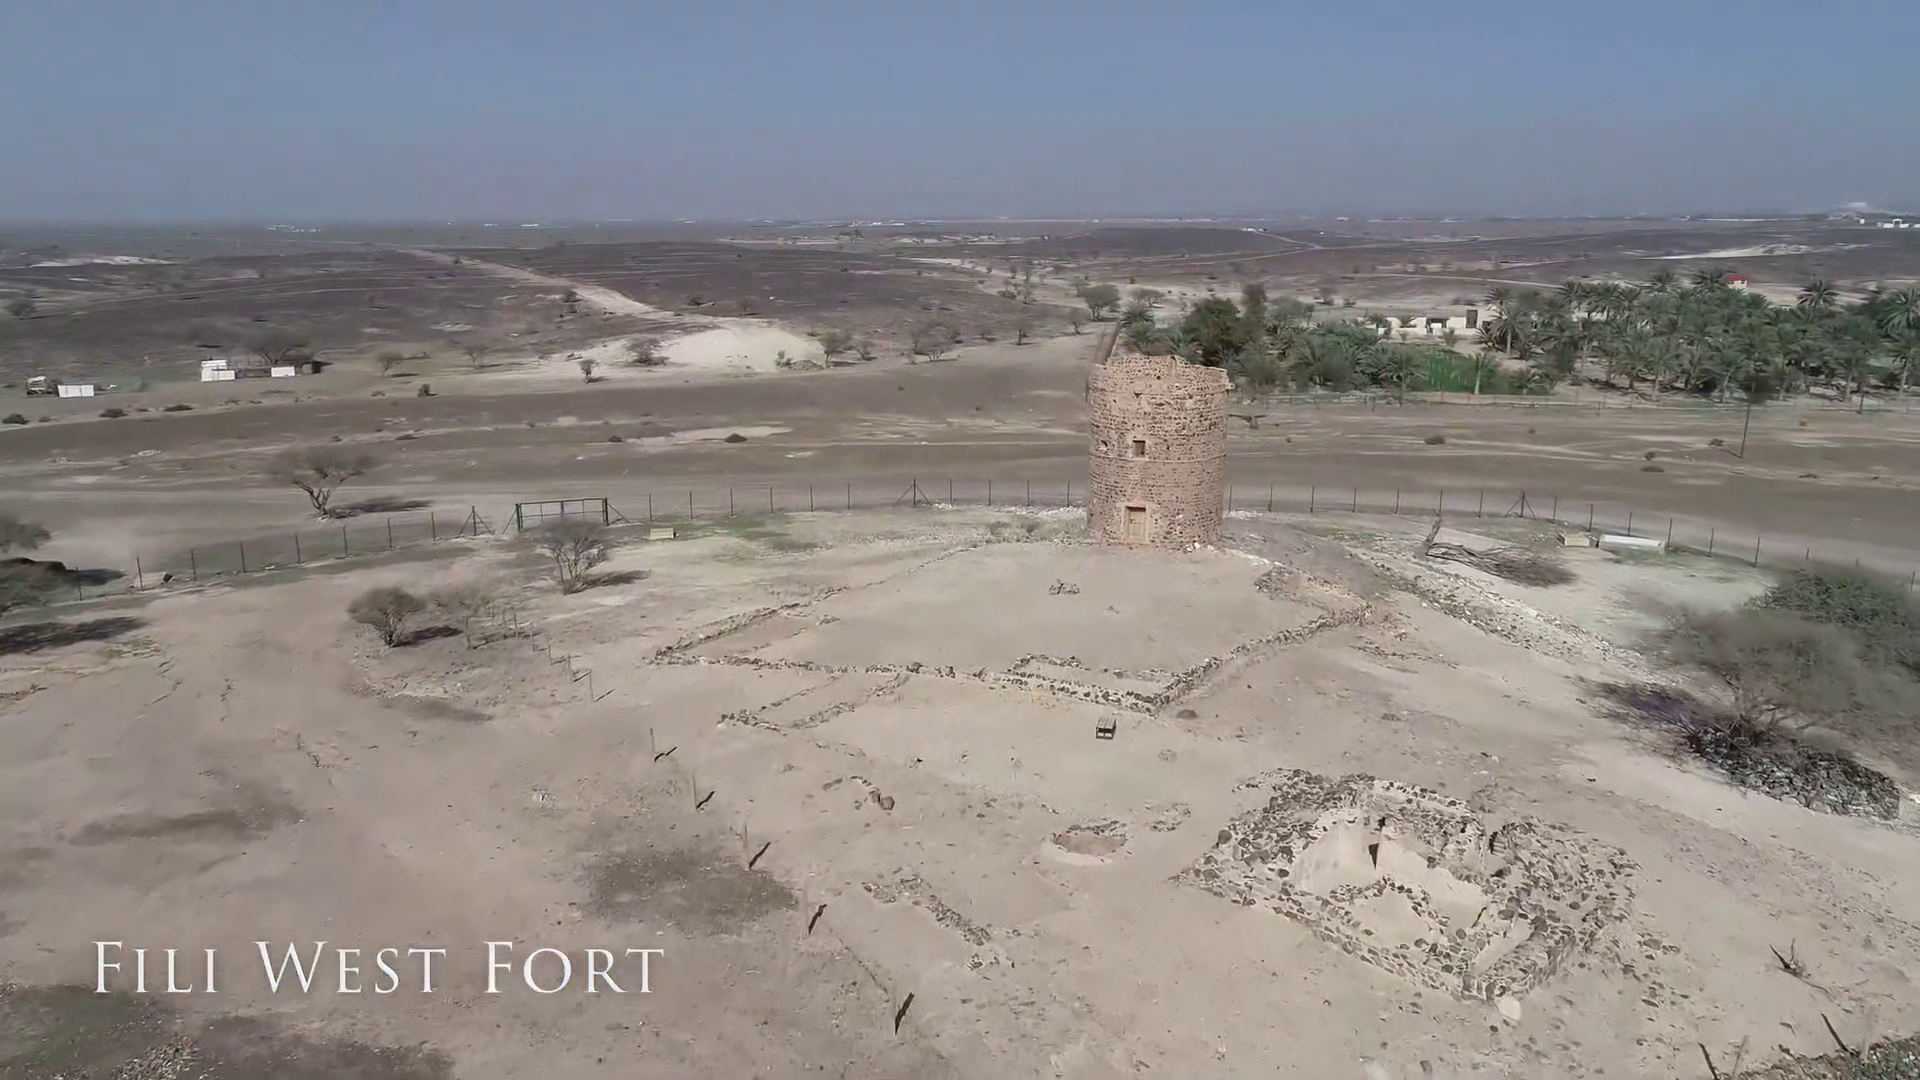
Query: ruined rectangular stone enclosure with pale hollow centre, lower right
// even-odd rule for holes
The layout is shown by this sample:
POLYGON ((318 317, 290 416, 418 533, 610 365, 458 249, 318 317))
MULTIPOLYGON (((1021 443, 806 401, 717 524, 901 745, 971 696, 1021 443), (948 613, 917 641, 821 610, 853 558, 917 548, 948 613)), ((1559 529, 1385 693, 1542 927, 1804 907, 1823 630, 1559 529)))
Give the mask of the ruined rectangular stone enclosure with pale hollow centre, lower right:
POLYGON ((1559 824, 1488 830, 1467 803, 1361 774, 1283 769, 1240 790, 1269 798, 1175 880, 1463 999, 1536 990, 1632 907, 1626 853, 1559 824))

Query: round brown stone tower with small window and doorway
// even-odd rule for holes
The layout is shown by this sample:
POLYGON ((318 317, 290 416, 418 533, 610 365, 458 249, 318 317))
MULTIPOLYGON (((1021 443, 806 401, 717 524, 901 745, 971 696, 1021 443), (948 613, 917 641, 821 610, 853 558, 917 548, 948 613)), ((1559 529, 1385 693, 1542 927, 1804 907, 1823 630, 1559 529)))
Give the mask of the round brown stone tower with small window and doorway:
POLYGON ((1177 356, 1108 356, 1087 379, 1087 525, 1096 544, 1188 548, 1219 536, 1227 373, 1177 356))

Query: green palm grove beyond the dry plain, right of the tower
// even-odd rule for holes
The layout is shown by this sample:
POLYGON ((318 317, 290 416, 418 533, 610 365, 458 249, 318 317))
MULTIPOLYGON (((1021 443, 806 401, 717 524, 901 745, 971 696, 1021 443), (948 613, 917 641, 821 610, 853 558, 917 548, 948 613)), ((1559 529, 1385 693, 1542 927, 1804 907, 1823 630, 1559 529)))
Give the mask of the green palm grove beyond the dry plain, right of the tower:
MULTIPOLYGON (((1112 286, 1092 286, 1112 288, 1112 286)), ((1087 290, 1091 292, 1091 288, 1087 290)), ((1089 298, 1094 317, 1096 298, 1089 298)), ((1112 300, 1102 294, 1098 300, 1112 300)), ((1121 340, 1225 367, 1250 390, 1461 390, 1544 394, 1574 377, 1653 396, 1667 392, 1768 398, 1826 390, 1860 398, 1905 390, 1920 373, 1920 290, 1874 292, 1843 304, 1826 281, 1791 306, 1728 284, 1726 271, 1682 282, 1670 271, 1645 284, 1569 281, 1557 290, 1494 288, 1475 348, 1413 344, 1380 315, 1317 323, 1315 306, 1269 298, 1246 284, 1240 302, 1210 296, 1162 323, 1160 294, 1135 288, 1119 309, 1121 340)))

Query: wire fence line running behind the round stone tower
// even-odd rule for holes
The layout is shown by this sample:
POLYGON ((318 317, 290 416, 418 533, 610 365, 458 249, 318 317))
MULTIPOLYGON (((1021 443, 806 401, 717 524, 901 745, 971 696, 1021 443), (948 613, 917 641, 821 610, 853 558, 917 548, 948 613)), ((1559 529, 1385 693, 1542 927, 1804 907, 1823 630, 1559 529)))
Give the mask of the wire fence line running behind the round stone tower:
MULTIPOLYGON (((557 502, 557 500, 555 500, 557 502)), ((906 477, 860 480, 785 480, 768 484, 714 484, 655 492, 624 492, 570 503, 591 505, 595 521, 605 513, 614 528, 647 525, 724 523, 739 517, 872 509, 1058 509, 1085 507, 1085 480, 970 480, 960 477, 906 477)), ((1703 525, 1674 513, 1645 511, 1607 500, 1584 500, 1555 492, 1513 488, 1325 488, 1311 484, 1250 482, 1236 477, 1227 484, 1223 509, 1308 513, 1308 515, 1413 515, 1461 519, 1528 519, 1590 534, 1651 538, 1674 552, 1732 559, 1751 567, 1801 569, 1811 565, 1853 567, 1880 577, 1920 584, 1920 567, 1884 557, 1857 559, 1824 555, 1818 548, 1778 534, 1768 540, 1759 530, 1703 525)), ((190 548, 134 555, 125 573, 81 571, 73 600, 148 590, 154 586, 217 580, 424 548, 451 540, 513 536, 515 507, 484 511, 407 509, 367 513, 298 530, 253 532, 244 538, 196 544, 190 548)), ((551 517, 547 519, 551 521, 551 517)), ((58 598, 56 598, 58 600, 58 598)))

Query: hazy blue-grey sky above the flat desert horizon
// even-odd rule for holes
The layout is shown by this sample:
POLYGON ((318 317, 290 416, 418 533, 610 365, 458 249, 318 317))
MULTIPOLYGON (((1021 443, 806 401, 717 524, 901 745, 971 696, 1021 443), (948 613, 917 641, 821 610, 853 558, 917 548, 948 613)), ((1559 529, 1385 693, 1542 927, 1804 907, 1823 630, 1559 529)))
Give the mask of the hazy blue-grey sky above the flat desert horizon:
POLYGON ((1920 209, 1914 0, 0 0, 0 221, 1920 209))

